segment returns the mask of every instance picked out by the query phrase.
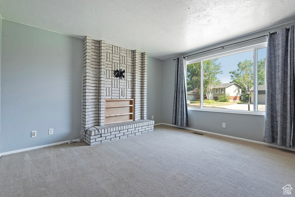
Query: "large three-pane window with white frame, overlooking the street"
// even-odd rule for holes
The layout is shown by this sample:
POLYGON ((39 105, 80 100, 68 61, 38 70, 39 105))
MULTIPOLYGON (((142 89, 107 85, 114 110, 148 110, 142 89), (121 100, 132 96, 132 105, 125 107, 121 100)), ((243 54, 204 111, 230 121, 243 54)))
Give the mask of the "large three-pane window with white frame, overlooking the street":
POLYGON ((189 109, 264 113, 266 43, 189 60, 186 68, 189 109))

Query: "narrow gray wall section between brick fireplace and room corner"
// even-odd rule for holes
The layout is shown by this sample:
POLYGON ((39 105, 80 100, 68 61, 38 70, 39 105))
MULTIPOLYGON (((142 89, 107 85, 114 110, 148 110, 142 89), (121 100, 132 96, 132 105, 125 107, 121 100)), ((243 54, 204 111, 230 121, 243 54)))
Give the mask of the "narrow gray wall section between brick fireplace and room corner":
POLYGON ((147 119, 162 123, 162 63, 148 56, 147 119))

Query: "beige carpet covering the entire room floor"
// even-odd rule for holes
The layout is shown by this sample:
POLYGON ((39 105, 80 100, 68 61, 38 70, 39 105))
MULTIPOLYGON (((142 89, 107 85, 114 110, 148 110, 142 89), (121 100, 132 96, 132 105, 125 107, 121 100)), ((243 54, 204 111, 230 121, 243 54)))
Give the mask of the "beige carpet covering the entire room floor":
POLYGON ((4 155, 0 196, 295 196, 295 152, 191 132, 4 155))

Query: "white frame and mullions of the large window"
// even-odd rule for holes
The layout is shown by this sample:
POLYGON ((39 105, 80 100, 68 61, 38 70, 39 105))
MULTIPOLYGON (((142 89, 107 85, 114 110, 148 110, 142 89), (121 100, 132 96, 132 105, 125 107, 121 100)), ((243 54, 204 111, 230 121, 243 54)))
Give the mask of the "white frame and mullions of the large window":
MULTIPOLYGON (((225 51, 221 53, 216 53, 213 55, 209 56, 204 56, 200 58, 195 58, 192 60, 186 60, 186 66, 188 64, 193 64, 200 62, 201 63, 201 88, 200 88, 200 108, 194 108, 194 107, 189 107, 188 110, 196 110, 196 111, 210 111, 210 112, 221 112, 221 113, 236 113, 236 114, 252 114, 252 115, 265 115, 265 111, 258 111, 258 74, 257 74, 257 56, 258 56, 258 49, 260 48, 266 48, 267 47, 267 42, 255 44, 255 45, 250 45, 246 47, 241 47, 241 48, 236 48, 230 51, 225 51), (253 51, 253 92, 254 92, 254 100, 253 100, 253 111, 246 111, 246 110, 226 110, 226 109, 208 109, 208 108, 203 108, 203 100, 204 100, 204 92, 203 92, 203 61, 209 60, 209 59, 214 59, 214 58, 219 58, 219 57, 224 57, 224 56, 229 56, 229 55, 234 55, 237 53, 242 53, 246 51, 253 51)), ((186 79, 186 66, 185 66, 185 79, 186 79)), ((216 91, 216 90, 215 90, 216 91)), ((187 91, 186 91, 187 92, 187 91)))

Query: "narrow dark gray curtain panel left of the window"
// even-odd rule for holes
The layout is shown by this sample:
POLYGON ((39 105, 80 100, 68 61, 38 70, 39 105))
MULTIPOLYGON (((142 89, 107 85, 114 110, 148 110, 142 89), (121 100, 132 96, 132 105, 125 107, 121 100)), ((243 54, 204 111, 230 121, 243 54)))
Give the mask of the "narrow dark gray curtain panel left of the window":
POLYGON ((172 124, 189 127, 183 56, 176 58, 172 124))

